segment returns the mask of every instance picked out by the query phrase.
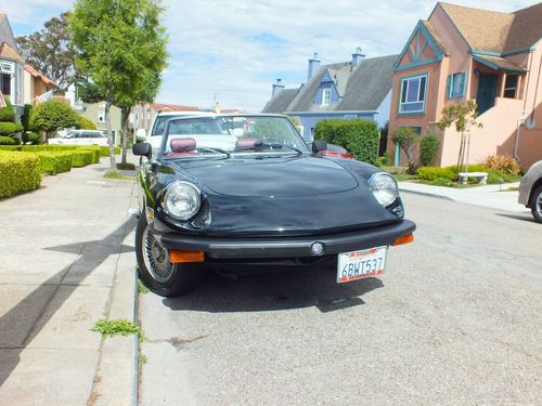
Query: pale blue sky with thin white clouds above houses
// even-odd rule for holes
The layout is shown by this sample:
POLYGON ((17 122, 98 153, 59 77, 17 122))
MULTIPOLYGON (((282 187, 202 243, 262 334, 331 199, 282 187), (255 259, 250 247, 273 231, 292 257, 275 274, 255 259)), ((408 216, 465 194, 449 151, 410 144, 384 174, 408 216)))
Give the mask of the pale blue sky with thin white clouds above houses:
MULTIPOLYGON (((511 12, 535 0, 449 0, 511 12)), ((28 35, 69 10, 73 0, 0 0, 15 36, 28 35)), ((366 57, 398 54, 428 0, 163 0, 169 36, 168 67, 157 103, 258 113, 281 78, 287 88, 307 80, 308 60, 350 61, 358 47, 366 57)))

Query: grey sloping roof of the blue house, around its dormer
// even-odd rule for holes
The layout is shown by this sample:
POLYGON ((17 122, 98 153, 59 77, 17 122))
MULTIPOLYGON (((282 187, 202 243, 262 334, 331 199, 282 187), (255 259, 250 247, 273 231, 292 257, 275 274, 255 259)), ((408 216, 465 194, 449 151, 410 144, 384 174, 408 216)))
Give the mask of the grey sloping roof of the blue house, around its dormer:
POLYGON ((299 89, 284 89, 262 113, 374 112, 391 89, 393 62, 398 55, 363 58, 358 66, 341 62, 321 66, 299 89), (322 77, 328 74, 341 101, 322 106, 314 103, 322 77), (284 108, 284 106, 287 106, 284 108))

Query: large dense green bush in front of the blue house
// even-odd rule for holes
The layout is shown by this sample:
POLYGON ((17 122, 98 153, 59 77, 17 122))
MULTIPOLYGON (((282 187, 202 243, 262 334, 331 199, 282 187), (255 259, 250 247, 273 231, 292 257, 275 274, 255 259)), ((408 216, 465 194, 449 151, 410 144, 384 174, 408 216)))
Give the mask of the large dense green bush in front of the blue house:
POLYGON ((367 120, 325 119, 317 123, 317 140, 340 145, 356 159, 376 163, 378 157, 378 129, 376 122, 367 120))

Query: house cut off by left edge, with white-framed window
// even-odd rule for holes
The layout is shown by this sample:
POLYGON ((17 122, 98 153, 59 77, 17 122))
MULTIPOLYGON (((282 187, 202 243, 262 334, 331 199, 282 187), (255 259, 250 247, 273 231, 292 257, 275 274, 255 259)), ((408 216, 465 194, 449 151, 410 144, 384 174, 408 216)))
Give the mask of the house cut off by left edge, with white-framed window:
POLYGON ((0 13, 0 92, 10 100, 17 117, 24 113, 23 68, 8 16, 0 13))

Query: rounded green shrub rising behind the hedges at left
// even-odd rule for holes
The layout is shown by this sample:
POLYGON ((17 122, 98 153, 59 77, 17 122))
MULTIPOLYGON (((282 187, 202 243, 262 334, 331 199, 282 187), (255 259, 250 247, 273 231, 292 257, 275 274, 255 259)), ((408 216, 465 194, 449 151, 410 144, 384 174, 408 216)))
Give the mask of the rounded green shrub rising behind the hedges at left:
POLYGON ((57 100, 38 104, 30 116, 30 129, 46 133, 46 140, 56 131, 79 127, 80 116, 68 104, 57 100))

